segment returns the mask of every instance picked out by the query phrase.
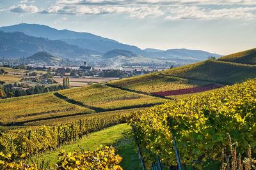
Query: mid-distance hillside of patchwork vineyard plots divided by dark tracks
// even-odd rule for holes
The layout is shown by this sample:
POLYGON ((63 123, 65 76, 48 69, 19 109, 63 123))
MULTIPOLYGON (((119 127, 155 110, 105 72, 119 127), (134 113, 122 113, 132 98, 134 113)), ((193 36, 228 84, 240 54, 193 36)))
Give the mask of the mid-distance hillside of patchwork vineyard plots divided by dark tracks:
POLYGON ((190 94, 211 90, 212 84, 218 88, 221 87, 218 83, 242 82, 255 78, 255 75, 256 66, 211 59, 106 84, 60 90, 54 94, 2 99, 0 112, 4 114, 0 115, 1 124, 25 124, 104 111, 122 112, 183 97, 184 92, 190 94), (159 96, 159 92, 166 92, 166 95, 159 96), (31 103, 33 107, 24 108, 25 103, 31 103))

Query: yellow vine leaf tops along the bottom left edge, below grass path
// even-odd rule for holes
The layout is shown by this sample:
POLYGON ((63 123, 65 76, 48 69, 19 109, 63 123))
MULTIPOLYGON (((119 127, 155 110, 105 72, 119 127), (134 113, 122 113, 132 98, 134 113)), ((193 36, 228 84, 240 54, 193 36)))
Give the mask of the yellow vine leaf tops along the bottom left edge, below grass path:
MULTIPOLYGON (((62 150, 58 155, 58 162, 55 166, 50 166, 49 169, 116 169, 122 170, 118 164, 122 161, 122 157, 115 154, 115 148, 112 146, 100 146, 94 151, 82 150, 68 152, 62 150)), ((39 162, 29 163, 28 161, 11 162, 9 155, 0 154, 0 168, 1 169, 15 169, 15 170, 44 170, 47 165, 39 162)))

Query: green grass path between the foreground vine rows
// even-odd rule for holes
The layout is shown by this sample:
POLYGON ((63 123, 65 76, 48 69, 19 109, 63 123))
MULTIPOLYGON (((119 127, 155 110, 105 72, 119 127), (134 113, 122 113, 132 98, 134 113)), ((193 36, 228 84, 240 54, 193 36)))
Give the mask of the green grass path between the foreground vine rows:
POLYGON ((79 150, 81 147, 95 150, 100 145, 112 145, 115 146, 116 152, 123 157, 121 166, 124 169, 138 169, 140 160, 138 159, 138 153, 134 152, 136 146, 134 141, 130 139, 129 131, 131 131, 131 127, 127 124, 115 125, 99 132, 93 132, 87 137, 83 136, 76 143, 63 145, 55 152, 45 153, 40 156, 40 159, 45 159, 45 161, 50 162, 50 165, 53 165, 58 159, 58 152, 62 149, 66 152, 74 152, 74 150, 79 150))

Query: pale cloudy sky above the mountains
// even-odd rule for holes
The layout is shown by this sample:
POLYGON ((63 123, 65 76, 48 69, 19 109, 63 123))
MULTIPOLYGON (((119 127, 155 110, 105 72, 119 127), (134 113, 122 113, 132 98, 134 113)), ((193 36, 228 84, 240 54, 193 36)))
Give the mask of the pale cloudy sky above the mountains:
POLYGON ((256 0, 0 0, 0 26, 45 24, 140 48, 256 47, 256 0))

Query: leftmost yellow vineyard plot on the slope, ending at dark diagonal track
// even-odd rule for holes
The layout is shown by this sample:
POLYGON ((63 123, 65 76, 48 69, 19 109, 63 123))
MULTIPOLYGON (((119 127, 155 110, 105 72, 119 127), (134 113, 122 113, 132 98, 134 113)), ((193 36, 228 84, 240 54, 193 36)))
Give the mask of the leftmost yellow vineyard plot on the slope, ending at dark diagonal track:
POLYGON ((95 113, 90 108, 67 103, 53 94, 16 99, 0 103, 0 123, 12 124, 47 118, 68 117, 77 114, 95 113))

